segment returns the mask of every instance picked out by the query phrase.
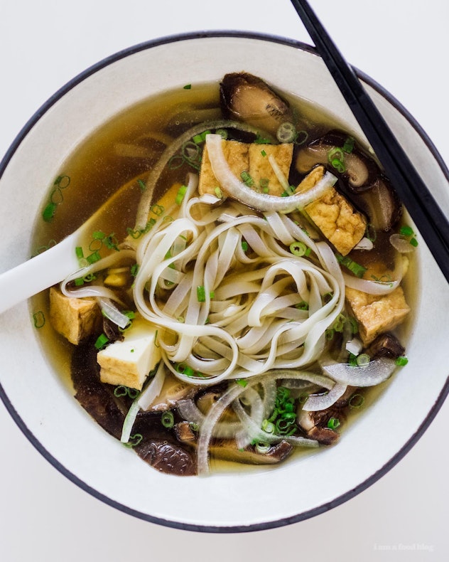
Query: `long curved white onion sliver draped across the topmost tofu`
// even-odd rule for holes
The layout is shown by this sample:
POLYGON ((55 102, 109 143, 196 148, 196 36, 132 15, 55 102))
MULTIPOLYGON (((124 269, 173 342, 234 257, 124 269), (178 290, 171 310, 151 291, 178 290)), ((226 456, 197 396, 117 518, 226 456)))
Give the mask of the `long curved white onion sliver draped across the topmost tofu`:
POLYGON ((332 187, 337 178, 326 172, 323 179, 318 181, 312 189, 305 193, 296 193, 288 197, 278 197, 267 195, 266 193, 257 193, 249 189, 242 181, 240 181, 229 168, 229 164, 224 158, 222 149, 222 137, 220 134, 206 135, 207 154, 209 155, 210 164, 215 177, 220 182, 222 189, 232 198, 237 199, 241 203, 249 207, 259 209, 259 211, 278 211, 280 213, 291 213, 296 209, 305 207, 308 203, 315 201, 323 195, 323 193, 332 187))

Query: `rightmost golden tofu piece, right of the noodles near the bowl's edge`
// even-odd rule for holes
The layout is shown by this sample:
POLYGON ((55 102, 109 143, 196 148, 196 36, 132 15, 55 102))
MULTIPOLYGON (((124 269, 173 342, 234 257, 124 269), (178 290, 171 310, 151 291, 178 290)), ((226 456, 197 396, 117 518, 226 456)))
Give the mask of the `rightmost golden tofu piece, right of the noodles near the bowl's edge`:
POLYGON ((410 312, 402 287, 388 295, 368 295, 366 292, 346 287, 347 303, 359 324, 359 334, 365 345, 379 334, 399 326, 410 312))

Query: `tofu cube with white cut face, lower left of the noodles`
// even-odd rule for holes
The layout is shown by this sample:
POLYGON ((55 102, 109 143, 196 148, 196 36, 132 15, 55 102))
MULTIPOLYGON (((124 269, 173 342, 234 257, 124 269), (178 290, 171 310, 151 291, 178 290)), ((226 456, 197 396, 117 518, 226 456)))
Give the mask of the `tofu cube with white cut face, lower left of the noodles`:
POLYGON ((114 341, 98 352, 100 380, 140 391, 148 373, 161 360, 156 332, 154 324, 136 317, 131 327, 124 332, 123 341, 114 341))

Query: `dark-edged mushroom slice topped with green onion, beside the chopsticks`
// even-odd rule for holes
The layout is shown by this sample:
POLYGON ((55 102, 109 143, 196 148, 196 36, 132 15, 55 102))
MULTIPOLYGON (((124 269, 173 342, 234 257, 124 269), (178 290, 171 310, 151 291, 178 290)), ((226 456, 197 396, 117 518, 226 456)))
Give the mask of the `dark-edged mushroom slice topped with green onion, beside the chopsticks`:
POLYGON ((379 167, 356 145, 346 152, 343 147, 348 138, 343 132, 330 131, 313 140, 298 152, 296 169, 307 174, 317 164, 325 164, 340 176, 350 191, 359 193, 372 189, 379 183, 379 167), (335 161, 333 166, 332 161, 335 161), (340 169, 338 164, 342 166, 340 169))

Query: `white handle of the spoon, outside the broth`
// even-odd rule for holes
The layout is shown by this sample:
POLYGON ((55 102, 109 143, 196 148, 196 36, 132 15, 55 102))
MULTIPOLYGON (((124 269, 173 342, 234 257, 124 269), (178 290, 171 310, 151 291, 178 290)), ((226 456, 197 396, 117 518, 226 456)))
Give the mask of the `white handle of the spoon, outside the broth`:
POLYGON ((31 260, 1 273, 0 314, 80 269, 75 253, 78 241, 78 233, 72 233, 31 260))

